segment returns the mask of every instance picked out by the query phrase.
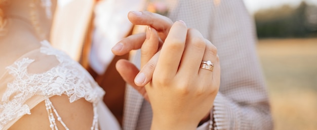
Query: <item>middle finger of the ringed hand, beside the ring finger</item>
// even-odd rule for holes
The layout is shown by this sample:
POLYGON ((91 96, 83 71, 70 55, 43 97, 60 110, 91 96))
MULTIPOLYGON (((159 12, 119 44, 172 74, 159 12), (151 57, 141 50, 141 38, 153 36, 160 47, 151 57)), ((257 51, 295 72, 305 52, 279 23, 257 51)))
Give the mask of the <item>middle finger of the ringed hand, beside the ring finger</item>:
POLYGON ((195 29, 188 29, 186 47, 179 66, 179 75, 198 75, 205 47, 205 38, 202 34, 195 29))

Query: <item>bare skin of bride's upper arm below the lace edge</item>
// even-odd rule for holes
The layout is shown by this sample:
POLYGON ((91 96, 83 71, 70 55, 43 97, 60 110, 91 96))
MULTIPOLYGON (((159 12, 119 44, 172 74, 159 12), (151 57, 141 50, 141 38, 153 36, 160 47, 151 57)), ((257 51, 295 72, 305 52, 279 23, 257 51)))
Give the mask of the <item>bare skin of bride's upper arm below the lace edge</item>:
MULTIPOLYGON (((93 125, 93 105, 84 98, 72 103, 66 95, 53 96, 50 100, 69 129, 90 129, 93 125)), ((57 127, 63 129, 63 125, 57 121, 55 114, 54 117, 57 127)), ((51 129, 45 101, 31 109, 30 115, 22 116, 10 129, 51 129)))

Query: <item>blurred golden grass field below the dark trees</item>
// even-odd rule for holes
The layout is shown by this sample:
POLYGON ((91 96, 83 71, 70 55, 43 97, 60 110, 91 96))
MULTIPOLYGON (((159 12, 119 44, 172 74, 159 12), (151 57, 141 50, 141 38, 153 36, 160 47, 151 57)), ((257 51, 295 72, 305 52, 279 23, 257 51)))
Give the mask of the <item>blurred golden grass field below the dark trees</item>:
POLYGON ((317 38, 257 45, 275 129, 317 129, 317 38))

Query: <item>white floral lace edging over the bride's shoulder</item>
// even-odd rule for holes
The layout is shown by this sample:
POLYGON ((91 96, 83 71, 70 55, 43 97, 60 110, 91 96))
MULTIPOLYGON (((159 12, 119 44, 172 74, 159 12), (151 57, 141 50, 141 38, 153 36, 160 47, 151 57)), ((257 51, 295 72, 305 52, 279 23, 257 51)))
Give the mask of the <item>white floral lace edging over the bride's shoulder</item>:
POLYGON ((69 102, 85 98, 94 106, 93 127, 98 129, 96 121, 97 103, 105 92, 100 88, 88 72, 76 61, 70 59, 63 52, 54 49, 48 41, 43 41, 41 53, 55 55, 60 62, 58 66, 42 74, 28 74, 27 67, 34 59, 22 58, 7 67, 8 73, 15 80, 8 83, 7 90, 0 104, 0 129, 9 121, 31 114, 29 107, 24 104, 33 95, 50 97, 65 94, 69 102))

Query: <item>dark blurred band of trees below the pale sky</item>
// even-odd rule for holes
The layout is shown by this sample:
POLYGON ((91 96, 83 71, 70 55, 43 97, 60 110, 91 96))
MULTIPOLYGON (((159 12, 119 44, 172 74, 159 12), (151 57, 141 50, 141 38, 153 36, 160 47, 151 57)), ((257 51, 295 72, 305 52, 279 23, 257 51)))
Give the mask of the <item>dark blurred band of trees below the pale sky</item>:
POLYGON ((285 5, 259 11, 254 14, 257 35, 259 38, 317 37, 317 21, 313 19, 317 14, 315 10, 317 7, 302 2, 295 9, 285 5))

